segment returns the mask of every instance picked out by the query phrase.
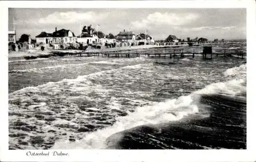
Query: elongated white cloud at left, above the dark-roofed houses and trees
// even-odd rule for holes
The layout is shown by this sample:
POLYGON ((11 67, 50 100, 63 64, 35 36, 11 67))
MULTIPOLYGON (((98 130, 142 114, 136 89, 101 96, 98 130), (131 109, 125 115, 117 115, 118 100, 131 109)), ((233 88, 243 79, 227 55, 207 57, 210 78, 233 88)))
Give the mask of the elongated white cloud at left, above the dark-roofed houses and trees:
POLYGON ((46 17, 39 19, 28 20, 23 23, 36 23, 36 24, 70 24, 83 22, 97 22, 107 17, 106 13, 95 13, 95 12, 54 12, 46 17))

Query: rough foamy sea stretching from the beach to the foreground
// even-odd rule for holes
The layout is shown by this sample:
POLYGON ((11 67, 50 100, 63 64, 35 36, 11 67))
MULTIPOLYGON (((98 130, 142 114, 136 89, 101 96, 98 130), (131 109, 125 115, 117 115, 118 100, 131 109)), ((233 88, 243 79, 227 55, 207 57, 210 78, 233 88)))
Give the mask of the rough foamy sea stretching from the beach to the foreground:
MULTIPOLYGON (((203 45, 147 51, 177 49, 203 45)), ((9 58, 8 71, 9 149, 246 149, 246 57, 9 58)))

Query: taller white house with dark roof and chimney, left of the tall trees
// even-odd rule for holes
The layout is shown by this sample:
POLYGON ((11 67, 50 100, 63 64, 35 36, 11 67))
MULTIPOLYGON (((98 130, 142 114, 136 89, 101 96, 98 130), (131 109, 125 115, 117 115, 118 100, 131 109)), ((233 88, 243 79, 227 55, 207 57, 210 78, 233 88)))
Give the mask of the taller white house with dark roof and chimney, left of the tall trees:
POLYGON ((55 28, 55 32, 52 34, 53 43, 73 43, 77 41, 76 36, 71 30, 61 29, 57 31, 55 28))

